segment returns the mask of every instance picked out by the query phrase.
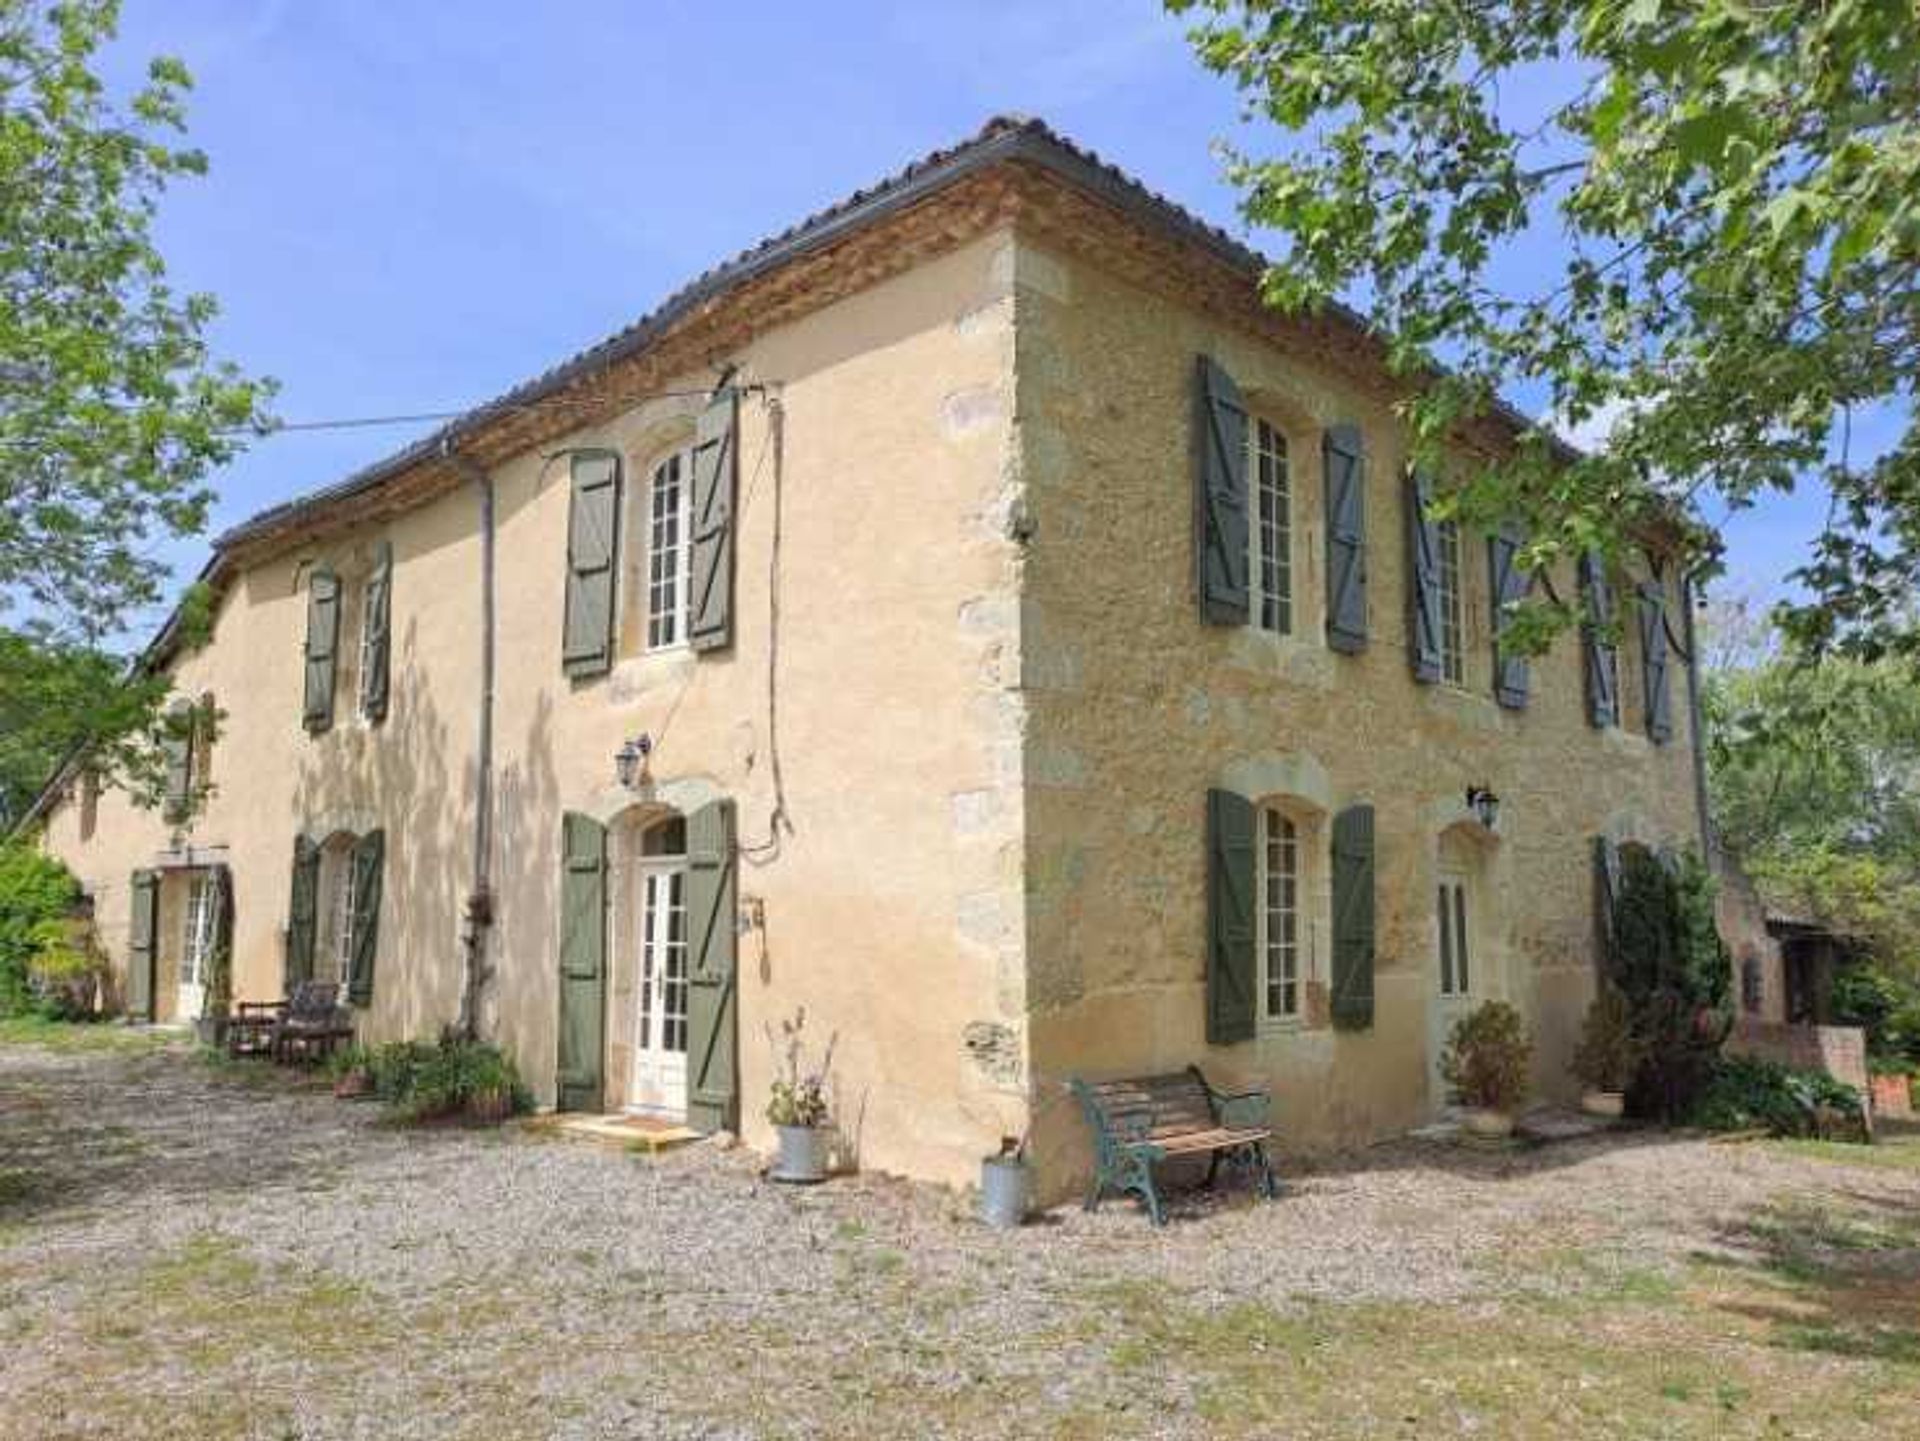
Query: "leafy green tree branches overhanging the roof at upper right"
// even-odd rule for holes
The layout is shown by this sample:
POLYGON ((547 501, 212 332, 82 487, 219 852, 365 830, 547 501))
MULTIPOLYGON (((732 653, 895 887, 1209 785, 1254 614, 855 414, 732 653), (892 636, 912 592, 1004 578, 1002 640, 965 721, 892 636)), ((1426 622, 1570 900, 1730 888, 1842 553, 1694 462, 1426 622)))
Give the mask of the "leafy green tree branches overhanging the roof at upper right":
MULTIPOLYGON (((1523 518, 1523 562, 1548 564, 1619 553, 1701 487, 1747 505, 1818 478, 1834 508, 1793 639, 1920 654, 1912 0, 1169 8, 1198 13, 1200 58, 1252 117, 1300 136, 1231 154, 1248 219, 1284 240, 1269 299, 1367 295, 1417 459, 1509 388, 1574 426, 1615 418, 1571 464, 1528 437, 1455 508, 1523 518), (1565 88, 1503 104, 1528 83, 1565 88), (1857 455, 1874 407, 1905 428, 1857 455)), ((1519 639, 1544 641, 1572 616, 1548 599, 1528 622, 1519 639)))

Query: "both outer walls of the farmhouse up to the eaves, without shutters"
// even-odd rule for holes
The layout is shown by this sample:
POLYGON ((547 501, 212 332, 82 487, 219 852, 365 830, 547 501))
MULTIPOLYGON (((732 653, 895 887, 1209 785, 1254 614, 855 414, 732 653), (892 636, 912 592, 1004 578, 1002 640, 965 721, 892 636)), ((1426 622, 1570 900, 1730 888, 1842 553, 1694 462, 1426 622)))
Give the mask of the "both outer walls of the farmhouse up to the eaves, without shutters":
POLYGON ((733 804, 739 840, 732 1028, 749 1144, 770 1140, 766 1027, 799 1007, 816 1042, 837 1036, 849 1151, 941 1182, 972 1180, 979 1155, 1031 1122, 1043 1186, 1062 1193, 1085 1157, 1062 1082, 1083 1073, 1198 1061, 1269 1080, 1288 1144, 1417 1124, 1434 1101, 1442 865, 1471 877, 1475 998, 1523 1009, 1542 1090, 1565 1092, 1594 977, 1592 839, 1697 842, 1686 725, 1659 746, 1638 733, 1628 652, 1622 725, 1594 729, 1572 643, 1534 662, 1526 710, 1498 708, 1476 547, 1463 683, 1417 685, 1402 443, 1384 382, 1367 382, 1377 365, 1277 330, 1252 278, 1235 292, 1217 259, 1192 259, 1204 286, 1127 259, 1114 238, 1171 244, 1154 211, 1171 207, 1135 190, 1116 201, 1112 184, 1050 132, 989 127, 893 182, 897 209, 810 223, 826 232, 818 248, 745 274, 739 294, 697 297, 647 347, 515 413, 530 418, 488 418, 493 430, 461 441, 465 470, 422 457, 223 543, 211 643, 165 658, 182 695, 225 712, 205 804, 175 829, 67 783, 44 810, 48 848, 86 883, 123 965, 129 877, 161 867, 157 1013, 179 994, 192 867, 228 865, 234 994, 273 998, 294 837, 380 829, 361 1036, 430 1036, 459 1015, 482 779, 484 472, 497 629, 480 1030, 541 1103, 557 1094, 564 817, 607 825, 603 1105, 616 1109, 632 1096, 641 837, 716 800, 733 804), (1123 213, 1135 203, 1144 219, 1123 213), (789 290, 755 307, 780 276, 789 290), (1194 604, 1196 355, 1238 378, 1296 457, 1288 637, 1202 624, 1194 604), (691 439, 720 363, 741 388, 732 641, 657 649, 647 478, 691 439), (1359 426, 1367 455, 1361 654, 1321 639, 1313 497, 1334 420, 1359 426), (513 424, 528 434, 495 434, 513 424), (566 457, 582 449, 620 457, 622 556, 614 662, 570 681, 566 457), (392 700, 365 723, 353 597, 382 541, 392 700), (309 735, 317 564, 344 578, 349 622, 336 721, 309 735), (614 781, 614 752, 637 735, 653 741, 645 792, 614 781), (1469 785, 1503 798, 1496 831, 1465 808, 1469 785), (1217 789, 1298 823, 1302 994, 1327 979, 1331 821, 1373 804, 1371 1027, 1338 1030, 1304 1007, 1252 1040, 1208 1044, 1217 789))

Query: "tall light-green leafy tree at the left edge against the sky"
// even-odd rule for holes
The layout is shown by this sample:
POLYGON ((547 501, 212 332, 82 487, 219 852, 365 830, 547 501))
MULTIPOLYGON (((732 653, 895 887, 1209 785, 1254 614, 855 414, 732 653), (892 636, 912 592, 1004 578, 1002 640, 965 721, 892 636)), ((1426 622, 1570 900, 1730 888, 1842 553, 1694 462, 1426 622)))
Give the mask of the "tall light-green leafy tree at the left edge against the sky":
POLYGON ((269 388, 211 357, 211 297, 154 248, 190 79, 96 73, 117 0, 0 0, 0 821, 75 744, 119 777, 159 691, 104 650, 161 599, 154 541, 198 533, 207 474, 265 426, 269 388), (27 779, 38 771, 35 779, 27 779))

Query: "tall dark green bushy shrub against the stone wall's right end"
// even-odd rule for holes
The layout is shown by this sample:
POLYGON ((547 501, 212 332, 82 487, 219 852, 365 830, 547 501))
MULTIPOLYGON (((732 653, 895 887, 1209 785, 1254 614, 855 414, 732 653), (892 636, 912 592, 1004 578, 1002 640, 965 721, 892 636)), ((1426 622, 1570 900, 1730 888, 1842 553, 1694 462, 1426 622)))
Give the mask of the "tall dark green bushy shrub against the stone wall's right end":
POLYGON ((1734 967, 1713 919, 1713 877, 1697 856, 1620 852, 1607 971, 1626 998, 1640 1067, 1634 1115, 1678 1121, 1713 1075, 1734 1025, 1734 967))

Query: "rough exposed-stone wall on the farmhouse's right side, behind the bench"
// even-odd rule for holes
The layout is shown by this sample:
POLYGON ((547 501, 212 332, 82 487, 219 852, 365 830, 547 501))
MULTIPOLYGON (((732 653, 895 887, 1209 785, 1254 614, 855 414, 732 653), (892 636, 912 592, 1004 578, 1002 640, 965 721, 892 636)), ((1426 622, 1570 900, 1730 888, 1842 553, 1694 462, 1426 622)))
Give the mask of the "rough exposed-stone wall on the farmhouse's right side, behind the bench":
MULTIPOLYGON (((1033 520, 1023 602, 1027 687, 1029 1004, 1041 1155, 1058 1192, 1081 1165, 1075 1073, 1200 1061, 1275 1088, 1284 1144, 1375 1138, 1430 1115, 1428 996, 1442 844, 1473 867, 1475 998, 1521 1007, 1536 1086, 1565 1063, 1592 994, 1592 837, 1697 833, 1684 673, 1676 737, 1640 733, 1638 656, 1620 658, 1626 729, 1596 733, 1578 645, 1532 666, 1532 702, 1490 695, 1486 551, 1463 543, 1465 687, 1417 685, 1405 652, 1404 443, 1379 395, 1311 359, 1089 263, 1021 255, 1018 414, 1033 520), (1192 376, 1210 353, 1292 455, 1294 637, 1204 626, 1192 562, 1192 376), (1321 428, 1361 426, 1369 647, 1323 641, 1321 428), (1498 835, 1469 785, 1503 800, 1498 835), (1327 829, 1377 810, 1377 1019, 1365 1032, 1204 1038, 1206 791, 1284 798, 1306 823, 1309 973, 1329 975, 1327 829)), ((1559 578, 1561 593, 1571 576, 1559 578)))

